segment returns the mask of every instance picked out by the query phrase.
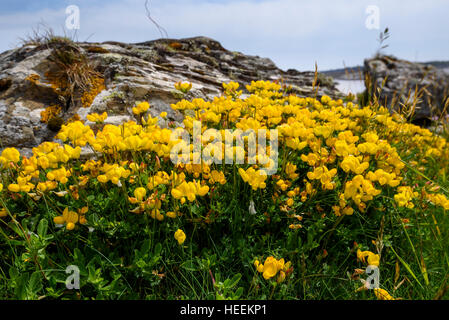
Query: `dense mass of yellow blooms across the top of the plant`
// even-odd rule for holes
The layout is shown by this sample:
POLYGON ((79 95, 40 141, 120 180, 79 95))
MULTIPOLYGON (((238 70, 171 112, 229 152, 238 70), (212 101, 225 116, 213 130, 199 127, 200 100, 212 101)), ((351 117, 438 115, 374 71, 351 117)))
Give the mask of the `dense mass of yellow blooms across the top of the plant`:
MULTIPOLYGON (((177 86, 187 89, 190 84, 177 86)), ((158 117, 106 124, 95 132, 74 121, 63 125, 58 133, 62 144, 44 142, 33 148, 29 158, 21 157, 14 148, 4 149, 0 155, 4 189, 77 195, 77 188, 86 186, 123 188, 129 201, 138 204, 133 212, 145 211, 162 220, 164 216, 180 216, 183 206, 202 201, 200 197, 209 201, 216 194, 214 190, 220 191, 229 180, 238 178, 261 196, 269 193, 267 198, 272 198, 287 217, 294 217, 292 211, 320 192, 332 194, 328 199, 334 203, 329 203, 328 209, 340 216, 352 215, 355 210, 364 212, 381 194, 394 195, 399 207, 413 208, 419 192, 428 187, 420 187, 424 185, 418 181, 420 176, 414 177, 417 181, 410 180, 412 175, 406 174, 401 156, 420 155, 410 162, 416 170, 436 156, 442 168, 449 165, 449 146, 444 138, 395 119, 386 108, 362 108, 326 96, 318 100, 286 95, 280 84, 266 81, 247 85, 250 94, 245 98, 240 98, 237 83, 224 84, 223 88, 224 95, 211 101, 181 100, 171 107, 183 113, 183 127, 190 135, 194 121, 202 121, 203 134, 213 128, 222 141, 243 141, 225 148, 224 143, 203 136, 196 151, 193 143, 183 142, 190 150, 186 155, 190 160, 205 151, 220 157, 218 150, 222 150, 220 160, 243 160, 243 165, 233 164, 233 170, 206 161, 174 165, 170 153, 179 140, 171 138, 172 129, 159 125, 158 117), (226 129, 242 132, 233 135, 226 129), (267 138, 269 130, 277 130, 277 153, 259 144, 258 152, 264 151, 266 156, 249 153, 246 146, 257 137, 243 132, 259 129, 267 130, 267 138), (81 147, 94 151, 97 160, 80 161, 81 147), (264 170, 274 165, 269 154, 279 156, 272 175, 264 170), (137 184, 145 192, 137 189, 137 184)), ((133 113, 144 115, 149 108, 148 102, 142 102, 133 113)), ((101 123, 106 117, 107 113, 92 114, 88 119, 101 123)), ((446 196, 437 190, 429 190, 422 199, 449 209, 446 196)), ((370 208, 374 210, 374 206, 370 208)), ((300 228, 299 224, 289 225, 300 228)))

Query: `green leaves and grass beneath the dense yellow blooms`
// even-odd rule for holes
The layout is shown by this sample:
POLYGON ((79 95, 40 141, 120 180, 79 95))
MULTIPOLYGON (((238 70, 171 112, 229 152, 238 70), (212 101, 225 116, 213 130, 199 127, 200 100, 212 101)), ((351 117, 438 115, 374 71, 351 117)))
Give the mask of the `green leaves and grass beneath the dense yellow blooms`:
MULTIPOLYGON (((232 99, 237 99, 235 92, 234 96, 232 99)), ((260 101, 271 104, 277 98, 270 99, 260 101)), ((322 103, 306 102, 307 108, 310 102, 318 110, 331 109, 326 98, 322 103)), ((348 113, 366 111, 371 110, 353 107, 348 113)), ((389 117, 386 112, 378 115, 389 117)), ((366 277, 360 272, 366 267, 360 251, 379 256, 381 288, 393 297, 449 298, 449 217, 444 205, 432 203, 449 189, 442 165, 447 160, 444 146, 430 147, 437 145, 435 141, 443 145, 443 140, 399 121, 390 119, 390 126, 401 129, 393 131, 389 126, 376 127, 369 117, 352 117, 356 119, 350 120, 355 122, 354 132, 380 128, 379 136, 398 150, 400 164, 404 164, 399 170, 404 185, 379 183, 376 187, 382 192, 370 201, 363 200, 363 206, 351 203, 354 208, 349 214, 340 214, 336 204, 355 174, 342 169, 342 156, 335 161, 335 185, 324 188, 321 180, 312 176, 317 166, 302 160, 302 155, 312 151, 309 145, 300 151, 280 148, 278 175, 287 180, 287 164, 296 165, 293 174, 297 176, 288 178, 294 196, 282 190, 279 176, 274 181, 267 179, 264 188, 254 189, 242 179, 239 169, 243 166, 232 165, 223 168, 223 184, 209 182, 207 197, 184 202, 173 196, 175 179, 148 186, 160 170, 168 175, 174 169, 162 156, 150 152, 122 152, 119 160, 128 160, 122 166, 127 166, 129 174, 117 183, 101 182, 105 172, 100 172, 99 166, 117 156, 105 152, 101 164, 81 162, 79 157, 67 160, 64 169, 70 172, 70 182, 56 183, 51 191, 15 192, 16 187, 26 188, 15 184, 20 177, 15 168, 29 170, 31 165, 26 165, 24 158, 14 162, 14 151, 7 150, 2 157, 9 161, 2 165, 8 167, 0 171, 4 187, 0 193, 0 298, 375 299, 372 291, 358 291, 360 280, 366 277), (412 143, 413 137, 404 138, 405 129, 416 130, 412 132, 419 134, 413 135, 428 140, 412 143), (429 147, 424 155, 420 148, 425 143, 429 147), (90 167, 83 169, 85 166, 90 167), (396 199, 398 188, 404 186, 420 191, 413 195, 413 202, 404 204, 396 199), (138 188, 146 192, 144 204, 137 199, 138 188), (157 206, 164 214, 162 219, 155 215, 157 206), (169 210, 176 213, 169 214, 169 210), (76 225, 69 227, 69 215, 75 215, 76 225), (178 231, 185 239, 175 238, 178 231), (79 269, 79 289, 66 286, 69 266, 79 269)), ((313 142, 318 141, 315 138, 313 142)), ((76 152, 75 148, 67 150, 76 152)), ((316 150, 324 153, 321 148, 316 150)), ((376 165, 386 169, 377 153, 367 157, 372 159, 366 170, 374 171, 376 165)), ((181 169, 179 172, 194 176, 193 171, 181 169)), ((49 173, 56 175, 56 170, 48 168, 36 171, 35 180, 43 181, 51 177, 49 173)), ((204 178, 205 183, 209 179, 204 178)), ((348 197, 345 201, 352 200, 348 197)))

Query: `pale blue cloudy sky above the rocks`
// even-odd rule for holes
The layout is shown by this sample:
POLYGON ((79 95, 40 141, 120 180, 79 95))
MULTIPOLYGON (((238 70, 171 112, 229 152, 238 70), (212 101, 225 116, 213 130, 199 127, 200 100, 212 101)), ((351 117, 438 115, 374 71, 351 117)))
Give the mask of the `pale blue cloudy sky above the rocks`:
MULTIPOLYGON (((169 38, 207 36, 228 50, 268 57, 284 70, 362 65, 378 50, 386 27, 391 36, 384 53, 449 60, 447 0, 149 0, 148 6, 169 38)), ((0 0, 0 52, 42 25, 78 41, 162 37, 145 0, 0 0), (66 26, 70 5, 79 8, 76 34, 66 26)))

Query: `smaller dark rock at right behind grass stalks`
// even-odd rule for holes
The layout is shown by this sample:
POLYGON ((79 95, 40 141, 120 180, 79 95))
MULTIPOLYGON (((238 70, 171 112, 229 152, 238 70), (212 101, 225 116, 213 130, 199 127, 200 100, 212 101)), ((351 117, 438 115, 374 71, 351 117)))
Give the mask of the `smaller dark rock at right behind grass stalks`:
POLYGON ((383 105, 390 110, 403 105, 416 107, 413 121, 419 124, 439 115, 449 95, 449 75, 431 65, 377 56, 365 60, 365 74, 371 79, 372 92, 382 89, 383 105))

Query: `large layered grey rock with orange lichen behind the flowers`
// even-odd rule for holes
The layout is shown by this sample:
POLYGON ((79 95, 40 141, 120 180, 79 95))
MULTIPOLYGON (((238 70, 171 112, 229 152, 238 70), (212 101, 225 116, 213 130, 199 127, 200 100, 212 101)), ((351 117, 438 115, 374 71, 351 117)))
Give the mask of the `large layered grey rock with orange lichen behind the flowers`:
MULTIPOLYGON (((189 99, 212 99, 222 93, 223 82, 236 81, 244 87, 252 80, 280 80, 298 95, 310 96, 315 94, 314 76, 313 72, 282 71, 270 59, 226 50, 205 37, 137 44, 61 39, 27 44, 0 55, 0 147, 31 148, 53 139, 58 125, 43 122, 41 115, 49 106, 58 109, 61 123, 73 116, 86 120, 87 114, 104 111, 109 114, 107 123, 121 123, 133 119, 131 108, 136 102, 148 101, 153 116, 166 111, 169 119, 181 121, 181 115, 170 108, 182 97, 174 90, 178 81, 193 84, 185 95, 189 99), (76 74, 64 85, 59 83, 61 64, 76 73, 84 72, 82 63, 101 83, 95 88, 78 83, 77 92, 76 74)), ((342 97, 332 78, 319 74, 318 84, 317 96, 342 97)))

